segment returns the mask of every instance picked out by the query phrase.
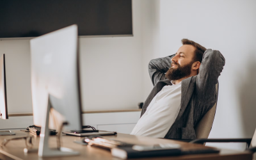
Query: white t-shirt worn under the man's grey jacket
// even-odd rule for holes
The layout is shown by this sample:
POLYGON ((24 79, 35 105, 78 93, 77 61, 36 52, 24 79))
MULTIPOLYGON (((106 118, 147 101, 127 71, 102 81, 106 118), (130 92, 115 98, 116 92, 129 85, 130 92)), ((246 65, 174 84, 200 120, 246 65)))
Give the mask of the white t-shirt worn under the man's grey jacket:
POLYGON ((164 138, 179 114, 180 100, 181 82, 164 86, 152 99, 131 134, 164 138))

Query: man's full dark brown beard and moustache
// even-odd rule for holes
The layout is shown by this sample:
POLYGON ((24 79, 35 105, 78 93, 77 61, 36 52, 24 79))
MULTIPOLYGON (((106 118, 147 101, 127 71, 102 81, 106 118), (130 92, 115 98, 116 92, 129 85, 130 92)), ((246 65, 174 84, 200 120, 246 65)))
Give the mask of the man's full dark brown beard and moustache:
POLYGON ((193 61, 191 61, 191 63, 189 63, 188 65, 184 65, 182 67, 180 67, 180 65, 176 62, 172 62, 172 65, 177 65, 177 68, 169 68, 169 70, 165 74, 165 77, 168 78, 170 81, 175 81, 184 77, 188 77, 191 74, 191 67, 193 65, 193 61))

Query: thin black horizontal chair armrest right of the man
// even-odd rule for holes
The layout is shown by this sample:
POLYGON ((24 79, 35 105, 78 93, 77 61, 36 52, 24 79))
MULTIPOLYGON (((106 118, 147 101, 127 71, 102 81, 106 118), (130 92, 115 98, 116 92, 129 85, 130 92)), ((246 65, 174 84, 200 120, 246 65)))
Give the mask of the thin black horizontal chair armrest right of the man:
MULTIPOLYGON (((244 142, 246 143, 246 148, 249 148, 251 141, 252 141, 252 138, 221 138, 221 139, 198 139, 198 140, 190 141, 189 143, 204 144, 206 142, 213 142, 213 143, 244 142)), ((255 152, 256 152, 256 149, 255 149, 255 152)))

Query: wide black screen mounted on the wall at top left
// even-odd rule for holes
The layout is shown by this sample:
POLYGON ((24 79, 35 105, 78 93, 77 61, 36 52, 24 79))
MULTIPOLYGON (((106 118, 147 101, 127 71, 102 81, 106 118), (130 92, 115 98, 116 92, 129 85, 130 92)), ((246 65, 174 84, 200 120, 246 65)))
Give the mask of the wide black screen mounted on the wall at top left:
POLYGON ((77 24, 79 36, 132 35, 132 2, 0 1, 0 38, 40 36, 72 24, 77 24))

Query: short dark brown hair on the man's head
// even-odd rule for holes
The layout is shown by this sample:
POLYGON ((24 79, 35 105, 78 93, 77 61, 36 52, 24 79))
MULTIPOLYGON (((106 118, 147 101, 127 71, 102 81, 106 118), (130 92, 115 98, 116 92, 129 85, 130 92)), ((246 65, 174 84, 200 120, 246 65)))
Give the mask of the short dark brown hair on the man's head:
POLYGON ((186 38, 183 38, 181 40, 181 42, 183 45, 187 44, 187 45, 193 45, 194 47, 196 47, 193 62, 200 61, 200 63, 202 63, 204 52, 205 52, 206 48, 203 47, 202 45, 194 42, 193 40, 188 40, 186 38))

